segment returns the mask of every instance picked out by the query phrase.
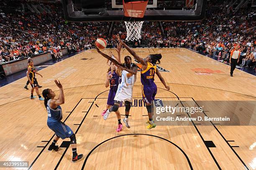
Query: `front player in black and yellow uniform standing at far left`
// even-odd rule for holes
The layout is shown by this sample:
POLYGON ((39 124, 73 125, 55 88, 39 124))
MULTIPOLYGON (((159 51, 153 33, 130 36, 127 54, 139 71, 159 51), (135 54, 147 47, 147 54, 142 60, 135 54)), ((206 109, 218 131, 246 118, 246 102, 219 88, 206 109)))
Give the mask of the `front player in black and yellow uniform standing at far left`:
POLYGON ((34 63, 32 60, 29 60, 28 63, 29 63, 29 66, 28 66, 28 71, 27 71, 27 77, 28 77, 29 83, 32 86, 30 99, 36 98, 33 96, 34 89, 36 89, 36 94, 38 95, 39 100, 44 100, 44 98, 41 97, 40 93, 39 93, 38 82, 36 80, 36 74, 40 75, 41 77, 43 77, 43 76, 41 74, 39 74, 38 72, 36 72, 36 69, 34 68, 34 63))

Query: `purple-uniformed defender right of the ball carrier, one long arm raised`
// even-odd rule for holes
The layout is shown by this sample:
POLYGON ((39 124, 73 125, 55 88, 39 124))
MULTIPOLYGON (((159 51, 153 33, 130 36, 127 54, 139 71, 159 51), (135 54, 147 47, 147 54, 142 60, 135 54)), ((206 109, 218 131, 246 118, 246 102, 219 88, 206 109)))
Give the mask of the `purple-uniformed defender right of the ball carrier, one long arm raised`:
POLYGON ((148 119, 149 121, 147 129, 151 129, 156 127, 156 124, 153 122, 153 114, 154 114, 154 105, 153 101, 156 96, 157 87, 154 83, 155 74, 159 77, 160 81, 164 84, 166 89, 170 89, 169 86, 166 85, 164 78, 161 76, 159 70, 156 68, 156 64, 160 63, 160 59, 162 58, 161 54, 150 54, 146 58, 139 57, 135 51, 133 51, 129 46, 127 46, 119 37, 117 36, 118 41, 133 55, 133 57, 138 60, 142 65, 141 71, 141 84, 142 84, 142 96, 143 101, 146 104, 146 108, 148 110, 148 119))

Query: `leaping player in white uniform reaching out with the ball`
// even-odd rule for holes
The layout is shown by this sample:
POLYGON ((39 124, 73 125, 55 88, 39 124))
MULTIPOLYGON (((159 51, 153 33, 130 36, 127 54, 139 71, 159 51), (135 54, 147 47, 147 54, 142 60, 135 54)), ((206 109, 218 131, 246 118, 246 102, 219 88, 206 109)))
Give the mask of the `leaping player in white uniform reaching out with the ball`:
MULTIPOLYGON (((122 81, 118 85, 118 90, 115 94, 114 98, 114 105, 110 107, 110 109, 107 110, 107 112, 104 114, 103 119, 107 120, 108 115, 110 112, 118 112, 118 108, 120 107, 121 101, 125 102, 125 118, 123 119, 123 122, 125 123, 125 126, 130 128, 128 124, 128 116, 131 109, 131 101, 133 98, 133 85, 136 81, 136 74, 138 71, 138 66, 131 62, 130 56, 125 56, 124 60, 125 63, 120 63, 119 61, 116 61, 115 59, 111 58, 110 56, 102 53, 96 46, 97 52, 100 53, 105 58, 112 61, 116 66, 118 66, 118 69, 116 70, 116 73, 122 76, 122 81)), ((118 128, 116 129, 117 132, 120 132, 122 130, 123 124, 121 123, 120 114, 118 116, 118 128)))

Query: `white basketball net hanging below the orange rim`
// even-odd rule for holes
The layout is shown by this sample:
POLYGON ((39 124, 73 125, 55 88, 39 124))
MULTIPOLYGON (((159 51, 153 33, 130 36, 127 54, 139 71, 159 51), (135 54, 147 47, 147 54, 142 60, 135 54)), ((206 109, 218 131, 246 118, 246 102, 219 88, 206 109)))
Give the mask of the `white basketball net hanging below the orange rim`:
POLYGON ((126 41, 138 41, 141 39, 141 27, 144 21, 138 22, 127 22, 125 21, 127 37, 125 38, 126 41))

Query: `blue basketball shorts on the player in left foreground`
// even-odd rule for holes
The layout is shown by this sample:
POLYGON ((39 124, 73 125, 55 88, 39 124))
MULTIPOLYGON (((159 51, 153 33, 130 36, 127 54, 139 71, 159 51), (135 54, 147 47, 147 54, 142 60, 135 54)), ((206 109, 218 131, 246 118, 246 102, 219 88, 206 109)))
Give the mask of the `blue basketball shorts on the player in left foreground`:
POLYGON ((74 133, 67 124, 63 122, 47 122, 47 126, 61 139, 69 138, 74 133))

